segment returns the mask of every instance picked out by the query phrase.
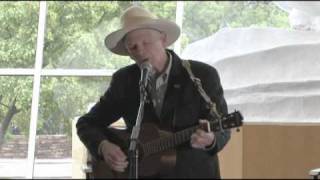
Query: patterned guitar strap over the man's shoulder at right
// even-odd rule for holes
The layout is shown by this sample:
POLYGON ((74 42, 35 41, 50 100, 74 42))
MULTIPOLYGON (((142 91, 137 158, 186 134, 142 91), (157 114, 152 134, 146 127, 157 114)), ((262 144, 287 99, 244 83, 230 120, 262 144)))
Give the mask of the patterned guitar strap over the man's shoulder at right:
POLYGON ((210 114, 215 115, 213 117, 217 117, 218 119, 220 119, 222 117, 222 115, 217 111, 216 103, 211 101, 210 97, 207 95, 207 93, 202 88, 201 80, 199 78, 195 77, 194 74, 192 73, 189 60, 182 60, 182 65, 187 70, 190 79, 192 80, 193 84, 195 85, 195 87, 199 91, 202 98, 205 100, 207 108, 210 109, 210 114))

